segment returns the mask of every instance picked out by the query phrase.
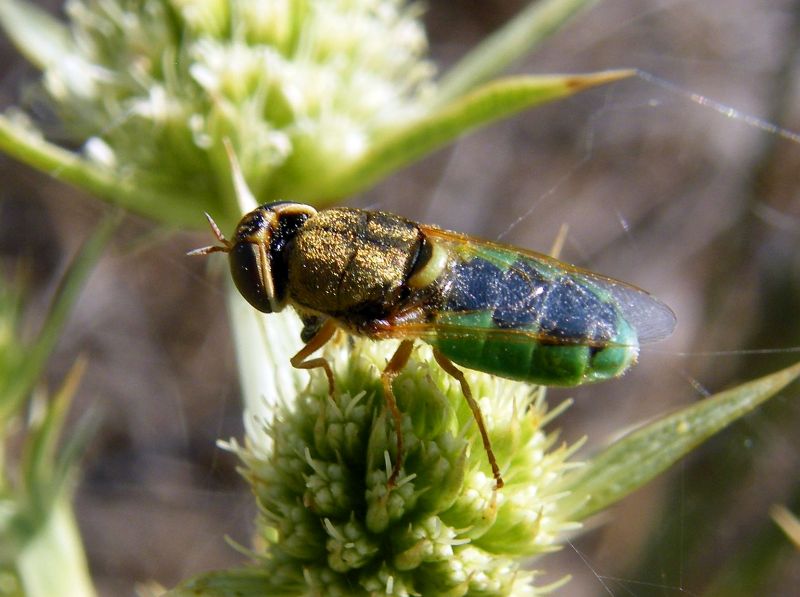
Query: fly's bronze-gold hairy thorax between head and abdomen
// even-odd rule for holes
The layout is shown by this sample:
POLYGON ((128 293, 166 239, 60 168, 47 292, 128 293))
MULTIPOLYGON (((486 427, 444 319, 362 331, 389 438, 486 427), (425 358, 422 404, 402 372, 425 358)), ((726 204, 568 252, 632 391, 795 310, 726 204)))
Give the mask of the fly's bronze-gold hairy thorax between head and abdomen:
POLYGON ((300 307, 336 315, 380 313, 396 305, 422 234, 414 222, 384 212, 328 209, 297 233, 289 288, 300 307))

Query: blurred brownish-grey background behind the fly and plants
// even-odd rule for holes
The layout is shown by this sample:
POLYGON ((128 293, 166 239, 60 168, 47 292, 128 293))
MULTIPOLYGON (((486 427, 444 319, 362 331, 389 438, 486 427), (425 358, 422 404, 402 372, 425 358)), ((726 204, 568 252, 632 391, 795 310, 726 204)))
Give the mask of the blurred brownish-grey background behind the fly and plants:
MULTIPOLYGON (((428 0, 433 58, 446 69, 525 4, 428 0)), ((674 309, 676 333, 623 378, 551 393, 575 399, 556 425, 588 454, 797 360, 800 141, 758 122, 800 132, 799 46, 797 0, 606 0, 516 70, 648 75, 480 131, 351 204, 545 252, 566 224, 564 260, 674 309)), ((35 81, 0 38, 0 107, 35 105, 35 81)), ((105 210, 0 156, 0 267, 30 272, 32 330, 105 210)), ((224 272, 184 256, 209 235, 131 217, 117 237, 48 368, 55 386, 89 358, 75 410, 102 419, 76 508, 103 595, 240 562, 225 536, 247 544, 254 515, 215 444, 242 434, 224 272)), ((768 511, 800 513, 799 426, 794 386, 537 568, 573 576, 562 595, 796 594, 800 554, 768 511)))

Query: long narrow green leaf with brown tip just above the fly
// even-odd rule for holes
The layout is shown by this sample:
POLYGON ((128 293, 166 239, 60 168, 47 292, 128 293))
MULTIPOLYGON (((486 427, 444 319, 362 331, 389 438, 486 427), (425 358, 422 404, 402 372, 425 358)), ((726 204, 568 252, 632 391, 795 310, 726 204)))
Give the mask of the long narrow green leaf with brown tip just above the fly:
POLYGON ((351 195, 479 126, 633 74, 632 70, 612 70, 583 75, 509 77, 488 83, 388 135, 334 180, 308 189, 310 196, 292 197, 303 200, 326 194, 351 195))

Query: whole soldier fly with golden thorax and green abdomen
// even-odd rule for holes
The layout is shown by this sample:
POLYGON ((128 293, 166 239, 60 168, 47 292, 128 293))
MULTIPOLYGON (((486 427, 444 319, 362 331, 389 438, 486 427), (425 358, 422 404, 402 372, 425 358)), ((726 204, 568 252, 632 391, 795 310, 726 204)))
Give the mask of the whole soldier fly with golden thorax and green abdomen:
POLYGON ((640 343, 663 339, 675 326, 669 307, 623 282, 386 212, 267 203, 241 219, 232 240, 206 216, 221 244, 190 254, 228 253, 236 287, 259 311, 293 307, 305 346, 291 364, 323 369, 331 394, 330 365, 310 357, 337 329, 401 340, 381 375, 397 436, 389 486, 403 464, 392 381, 415 340, 432 345, 436 361, 460 383, 500 488, 481 411, 455 364, 575 386, 621 375, 636 362, 640 343))

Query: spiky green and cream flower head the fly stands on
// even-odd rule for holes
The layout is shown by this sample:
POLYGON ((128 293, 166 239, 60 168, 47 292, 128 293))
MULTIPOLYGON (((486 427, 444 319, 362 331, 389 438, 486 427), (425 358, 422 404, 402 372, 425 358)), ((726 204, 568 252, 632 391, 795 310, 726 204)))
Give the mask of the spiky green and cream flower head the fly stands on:
POLYGON ((395 345, 344 336, 330 344, 323 353, 335 396, 313 372, 250 434, 247 448, 235 448, 258 501, 261 565, 280 579, 275 588, 536 594, 522 560, 556 549, 577 526, 559 512, 563 495, 550 489, 574 465, 542 429, 550 418, 542 391, 467 374, 506 483, 498 491, 458 382, 418 346, 394 383, 406 447, 390 489, 396 439, 380 372, 395 345))

